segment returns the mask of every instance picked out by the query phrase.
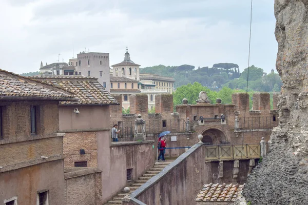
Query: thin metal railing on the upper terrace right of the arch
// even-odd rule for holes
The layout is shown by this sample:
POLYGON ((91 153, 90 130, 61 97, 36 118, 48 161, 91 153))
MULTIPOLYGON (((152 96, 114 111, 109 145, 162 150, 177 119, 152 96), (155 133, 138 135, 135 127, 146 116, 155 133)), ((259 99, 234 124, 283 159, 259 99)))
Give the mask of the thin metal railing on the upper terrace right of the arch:
POLYGON ((275 117, 245 117, 239 118, 240 129, 272 129, 278 126, 278 119, 275 117), (275 121, 274 121, 275 120, 275 121))

